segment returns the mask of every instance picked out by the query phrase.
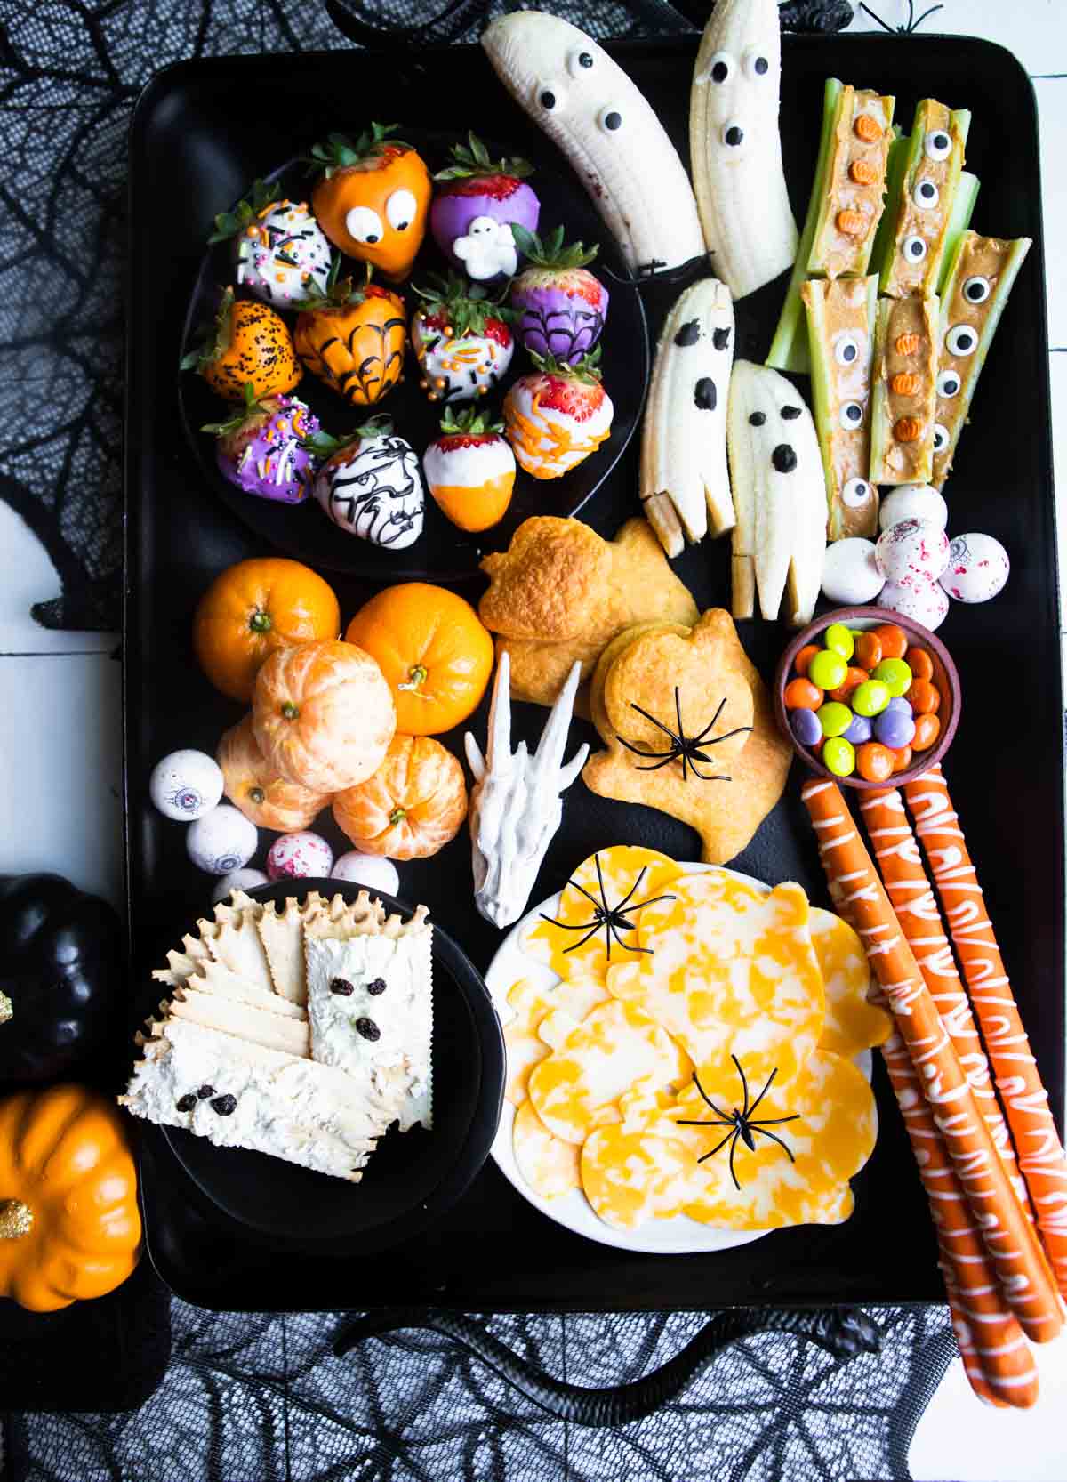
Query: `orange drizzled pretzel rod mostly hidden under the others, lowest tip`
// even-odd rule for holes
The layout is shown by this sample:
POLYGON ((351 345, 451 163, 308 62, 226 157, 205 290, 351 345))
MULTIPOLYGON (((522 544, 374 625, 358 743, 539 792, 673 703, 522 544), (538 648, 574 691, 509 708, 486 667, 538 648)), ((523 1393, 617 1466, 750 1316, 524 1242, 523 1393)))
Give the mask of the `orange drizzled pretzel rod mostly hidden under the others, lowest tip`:
MULTIPOLYGON (((825 867, 834 908, 848 919, 843 889, 833 867, 825 867)), ((895 1031, 882 1045, 882 1060, 926 1192, 963 1372, 983 1402, 1028 1409, 1037 1402, 1033 1355, 1018 1322, 1005 1309, 996 1272, 978 1227, 969 1218, 966 1194, 953 1171, 944 1138, 934 1125, 907 1045, 895 1031)))

